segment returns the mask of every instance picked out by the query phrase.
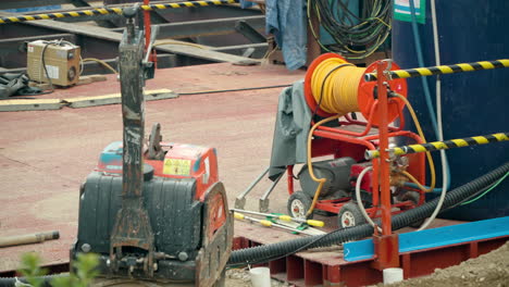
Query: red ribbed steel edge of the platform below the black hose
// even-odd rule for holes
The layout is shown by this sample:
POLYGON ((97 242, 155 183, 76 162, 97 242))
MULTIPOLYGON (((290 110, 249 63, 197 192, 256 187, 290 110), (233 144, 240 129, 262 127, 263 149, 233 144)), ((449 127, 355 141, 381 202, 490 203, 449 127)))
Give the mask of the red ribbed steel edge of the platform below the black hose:
MULTIPOLYGON (((249 234, 249 232, 245 233, 244 228, 241 233, 238 233, 238 226, 235 228, 237 234, 246 235, 246 237, 234 238, 234 249, 261 245, 258 239, 260 238, 259 229, 249 234)), ((406 279, 421 277, 433 273, 435 269, 458 265, 470 258, 488 253, 502 246, 508 239, 509 236, 502 236, 402 252, 398 254, 398 260, 406 279)), ((382 271, 373 269, 374 262, 372 259, 347 262, 343 259, 343 252, 339 250, 328 250, 300 252, 271 261, 265 265, 270 267, 273 278, 296 286, 356 287, 373 285, 383 280, 382 271)))

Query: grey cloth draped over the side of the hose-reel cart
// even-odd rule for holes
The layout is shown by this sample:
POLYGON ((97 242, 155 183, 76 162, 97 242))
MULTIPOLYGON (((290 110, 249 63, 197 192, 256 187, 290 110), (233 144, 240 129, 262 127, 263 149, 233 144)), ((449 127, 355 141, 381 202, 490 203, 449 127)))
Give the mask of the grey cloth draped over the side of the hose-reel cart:
POLYGON ((271 179, 284 173, 286 165, 306 162, 310 123, 311 111, 303 96, 303 80, 299 80, 280 95, 269 171, 271 179))

